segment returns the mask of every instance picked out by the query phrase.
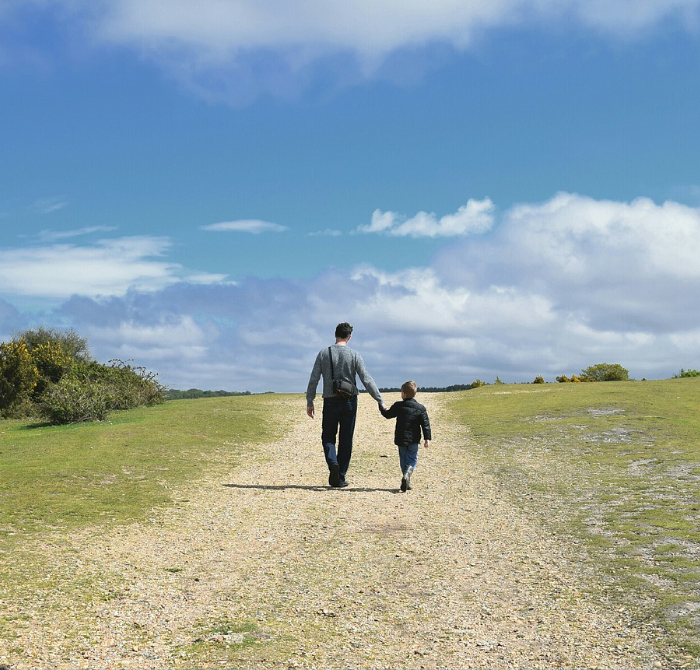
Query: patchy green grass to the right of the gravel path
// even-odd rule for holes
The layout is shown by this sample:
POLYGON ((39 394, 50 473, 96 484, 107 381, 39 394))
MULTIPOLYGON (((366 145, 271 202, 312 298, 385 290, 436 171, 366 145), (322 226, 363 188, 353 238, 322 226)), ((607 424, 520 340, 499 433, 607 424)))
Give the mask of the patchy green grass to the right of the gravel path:
POLYGON ((700 379, 494 385, 455 394, 474 458, 585 548, 641 625, 700 657, 700 379))

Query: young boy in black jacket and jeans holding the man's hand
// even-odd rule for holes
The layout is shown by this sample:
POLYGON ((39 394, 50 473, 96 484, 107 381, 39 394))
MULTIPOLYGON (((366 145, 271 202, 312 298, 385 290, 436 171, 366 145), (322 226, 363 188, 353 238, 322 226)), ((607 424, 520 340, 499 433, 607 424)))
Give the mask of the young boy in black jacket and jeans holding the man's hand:
POLYGON ((428 412, 415 400, 418 387, 416 383, 406 382, 401 386, 401 402, 395 402, 389 409, 380 403, 379 411, 385 419, 396 417, 394 444, 399 448, 399 464, 401 465, 401 490, 411 490, 411 475, 418 463, 418 443, 421 429, 423 430, 423 447, 430 446, 432 435, 428 412))

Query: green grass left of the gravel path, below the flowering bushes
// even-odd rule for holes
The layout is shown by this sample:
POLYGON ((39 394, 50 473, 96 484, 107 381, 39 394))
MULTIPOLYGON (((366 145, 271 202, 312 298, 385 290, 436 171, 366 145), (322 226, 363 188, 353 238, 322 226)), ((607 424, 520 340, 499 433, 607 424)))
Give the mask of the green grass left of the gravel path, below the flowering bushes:
POLYGON ((0 551, 47 530, 143 519, 172 491, 283 430, 279 396, 172 401, 102 423, 0 422, 0 551))

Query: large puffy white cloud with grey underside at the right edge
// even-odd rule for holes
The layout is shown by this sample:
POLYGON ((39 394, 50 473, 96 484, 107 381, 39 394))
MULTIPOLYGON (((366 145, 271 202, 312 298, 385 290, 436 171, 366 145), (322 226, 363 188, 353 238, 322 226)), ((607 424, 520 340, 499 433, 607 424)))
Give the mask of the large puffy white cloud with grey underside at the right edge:
POLYGON ((448 283, 546 295, 596 329, 673 331, 696 321, 700 210, 561 193, 504 213, 493 235, 441 252, 448 283))

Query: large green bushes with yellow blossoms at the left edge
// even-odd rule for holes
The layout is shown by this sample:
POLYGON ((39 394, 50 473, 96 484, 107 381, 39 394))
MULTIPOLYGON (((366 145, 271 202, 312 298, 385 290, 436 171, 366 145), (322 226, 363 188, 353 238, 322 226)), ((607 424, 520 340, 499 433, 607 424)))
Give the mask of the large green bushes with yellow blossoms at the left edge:
POLYGON ((43 326, 0 343, 0 417, 52 424, 104 420, 112 410, 161 403, 165 388, 143 367, 98 363, 87 340, 43 326))

